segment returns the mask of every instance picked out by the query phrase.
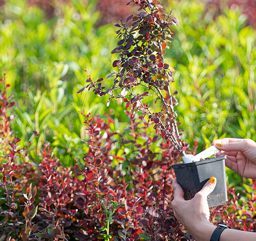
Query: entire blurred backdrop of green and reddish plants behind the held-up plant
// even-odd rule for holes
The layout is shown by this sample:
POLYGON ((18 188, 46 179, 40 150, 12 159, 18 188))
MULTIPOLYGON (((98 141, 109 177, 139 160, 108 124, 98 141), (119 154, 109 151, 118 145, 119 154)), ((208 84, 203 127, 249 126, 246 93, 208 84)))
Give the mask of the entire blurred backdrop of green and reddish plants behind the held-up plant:
MULTIPOLYGON (((111 66, 116 56, 110 51, 118 39, 111 22, 117 23, 120 17, 126 19, 132 13, 133 6, 126 3, 0 1, 0 70, 7 72, 7 94, 16 101, 9 115, 17 115, 12 129, 20 138, 20 148, 31 142, 27 161, 40 163, 42 140, 47 140, 62 166, 83 163, 82 157, 89 150, 83 140, 88 140, 89 135, 83 124, 86 115, 80 111, 90 112, 91 116, 99 114, 107 121, 107 98, 99 99, 85 91, 75 93, 85 85, 84 68, 93 79, 114 72, 111 66), (34 137, 33 130, 39 135, 34 137)), ((171 87, 179 90, 177 111, 183 139, 190 146, 196 140, 198 152, 217 138, 256 140, 255 1, 169 0, 164 7, 174 8, 179 19, 179 26, 172 29, 174 39, 165 58, 175 68, 171 87)), ((154 106, 150 98, 148 101, 154 106)), ((113 118, 110 130, 127 134, 130 119, 123 112, 124 103, 112 101, 108 108, 113 118)), ((151 132, 149 127, 148 134, 151 132)), ((121 159, 114 164, 126 166, 135 158, 131 145, 123 146, 121 138, 116 138, 115 148, 123 148, 125 154, 116 153, 121 159)), ((143 138, 138 141, 143 143, 147 137, 143 138)), ((158 153, 153 160, 159 160, 163 153, 160 145, 161 141, 156 141, 150 147, 151 152, 158 153)), ((254 198, 253 181, 243 183, 230 170, 227 174, 229 186, 242 196, 239 200, 233 198, 234 207, 254 198), (242 192, 244 187, 246 193, 242 192)), ((246 217, 242 212, 245 209, 237 210, 241 220, 246 217)), ((73 218, 71 214, 69 217, 73 218)))

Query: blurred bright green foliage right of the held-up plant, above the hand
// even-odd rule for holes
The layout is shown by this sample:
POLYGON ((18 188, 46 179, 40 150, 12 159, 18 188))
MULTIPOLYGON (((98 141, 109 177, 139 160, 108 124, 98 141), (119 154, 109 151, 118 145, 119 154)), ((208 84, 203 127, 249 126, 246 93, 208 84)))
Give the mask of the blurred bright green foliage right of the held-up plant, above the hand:
POLYGON ((255 140, 256 30, 239 11, 214 21, 200 1, 170 5, 180 19, 167 54, 176 64, 184 139, 198 140, 199 151, 224 137, 255 140))

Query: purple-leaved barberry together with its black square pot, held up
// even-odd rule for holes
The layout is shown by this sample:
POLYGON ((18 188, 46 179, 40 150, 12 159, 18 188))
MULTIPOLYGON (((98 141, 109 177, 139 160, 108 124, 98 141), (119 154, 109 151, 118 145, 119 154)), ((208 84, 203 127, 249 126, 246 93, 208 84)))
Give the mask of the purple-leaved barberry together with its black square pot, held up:
POLYGON ((185 199, 192 198, 209 178, 215 176, 218 181, 215 191, 210 194, 209 205, 224 204, 227 201, 224 158, 193 162, 194 158, 186 155, 187 144, 181 140, 178 130, 180 123, 177 123, 174 109, 178 105, 175 97, 178 91, 171 93, 169 86, 174 82, 175 70, 165 63, 164 55, 172 39, 170 27, 177 26, 179 21, 172 16, 173 10, 169 14, 163 13, 159 0, 132 0, 128 4, 132 2, 138 6, 138 14, 129 16, 125 23, 120 21, 120 24, 115 24, 119 28, 116 34, 120 40, 118 47, 111 51, 119 54, 113 62, 113 67, 117 67, 118 71, 107 77, 113 77, 112 87, 105 90, 101 83, 104 79, 93 81, 85 70, 89 75, 86 80, 88 85, 77 93, 85 88, 93 89, 98 96, 109 95, 107 106, 112 99, 121 100, 126 103, 126 109, 130 108, 133 113, 141 111, 148 115, 156 133, 170 142, 186 162, 172 165, 177 181, 185 192, 185 199), (121 91, 115 94, 115 89, 121 91), (144 102, 145 97, 151 94, 155 97, 155 103, 158 100, 162 102, 159 112, 153 112, 149 104, 144 102))

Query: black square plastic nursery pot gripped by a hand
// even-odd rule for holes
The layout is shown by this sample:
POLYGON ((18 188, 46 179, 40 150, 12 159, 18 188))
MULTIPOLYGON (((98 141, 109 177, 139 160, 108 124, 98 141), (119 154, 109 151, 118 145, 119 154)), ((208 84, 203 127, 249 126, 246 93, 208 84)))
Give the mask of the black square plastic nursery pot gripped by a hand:
POLYGON ((216 177, 216 187, 207 198, 208 205, 209 207, 216 207, 227 203, 226 157, 227 156, 218 156, 207 158, 199 162, 171 165, 175 171, 178 184, 184 191, 185 200, 192 199, 211 177, 216 177))

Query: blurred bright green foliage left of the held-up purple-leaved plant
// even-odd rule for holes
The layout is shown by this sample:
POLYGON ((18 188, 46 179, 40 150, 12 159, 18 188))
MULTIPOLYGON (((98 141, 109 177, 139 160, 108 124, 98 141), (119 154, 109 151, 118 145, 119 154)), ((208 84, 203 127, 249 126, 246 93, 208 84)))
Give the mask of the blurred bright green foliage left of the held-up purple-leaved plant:
POLYGON ((85 138, 79 111, 104 112, 94 95, 75 94, 85 83, 83 68, 101 76, 111 66, 107 63, 112 61, 108 52, 114 46, 113 27, 94 28, 99 19, 95 4, 81 0, 73 1, 71 7, 60 4, 49 21, 25 0, 10 0, 2 7, 0 68, 8 73, 18 101, 14 131, 24 145, 31 131, 37 130, 40 136, 34 146, 39 148, 46 138, 67 165, 74 146, 85 138))

